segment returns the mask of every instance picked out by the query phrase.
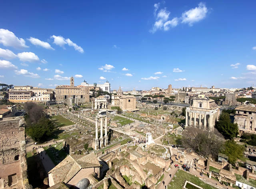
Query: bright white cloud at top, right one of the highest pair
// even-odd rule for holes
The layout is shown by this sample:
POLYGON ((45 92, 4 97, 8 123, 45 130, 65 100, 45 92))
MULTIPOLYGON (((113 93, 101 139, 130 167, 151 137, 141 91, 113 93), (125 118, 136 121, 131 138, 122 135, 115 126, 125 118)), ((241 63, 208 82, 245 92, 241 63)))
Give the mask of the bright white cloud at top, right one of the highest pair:
POLYGON ((205 4, 200 2, 198 7, 192 8, 182 13, 182 23, 188 23, 189 26, 193 26, 195 22, 199 22, 200 20, 204 19, 207 12, 208 9, 205 4))

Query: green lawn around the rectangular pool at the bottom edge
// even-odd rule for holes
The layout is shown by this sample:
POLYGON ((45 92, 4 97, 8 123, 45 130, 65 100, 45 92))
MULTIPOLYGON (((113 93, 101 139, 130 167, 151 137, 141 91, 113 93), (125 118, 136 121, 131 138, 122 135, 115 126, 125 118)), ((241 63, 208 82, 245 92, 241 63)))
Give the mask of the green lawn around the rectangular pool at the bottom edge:
POLYGON ((217 189, 216 187, 213 187, 211 185, 204 183, 198 177, 191 175, 190 173, 187 173, 185 171, 178 170, 175 175, 176 175, 176 177, 172 178, 172 180, 174 180, 174 181, 173 182, 171 181, 168 184, 168 189, 183 189, 183 185, 185 184, 186 180, 190 181, 204 189, 217 189))

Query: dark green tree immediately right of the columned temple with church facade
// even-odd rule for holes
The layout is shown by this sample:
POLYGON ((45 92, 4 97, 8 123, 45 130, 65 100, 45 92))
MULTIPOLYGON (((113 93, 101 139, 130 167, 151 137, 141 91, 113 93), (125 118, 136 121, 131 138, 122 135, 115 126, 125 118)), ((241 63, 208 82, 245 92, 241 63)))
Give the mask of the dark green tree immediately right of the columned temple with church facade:
POLYGON ((228 113, 222 112, 219 121, 216 122, 216 129, 225 137, 225 139, 233 139, 238 135, 237 123, 231 123, 228 113))

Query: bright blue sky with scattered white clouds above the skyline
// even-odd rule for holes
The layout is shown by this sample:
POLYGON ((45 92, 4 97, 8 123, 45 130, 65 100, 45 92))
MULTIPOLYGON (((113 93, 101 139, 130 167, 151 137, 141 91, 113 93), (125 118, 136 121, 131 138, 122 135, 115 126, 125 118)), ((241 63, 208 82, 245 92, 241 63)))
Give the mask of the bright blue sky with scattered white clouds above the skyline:
POLYGON ((256 2, 1 1, 0 82, 256 86, 256 2), (126 69, 124 69, 126 68, 126 69))

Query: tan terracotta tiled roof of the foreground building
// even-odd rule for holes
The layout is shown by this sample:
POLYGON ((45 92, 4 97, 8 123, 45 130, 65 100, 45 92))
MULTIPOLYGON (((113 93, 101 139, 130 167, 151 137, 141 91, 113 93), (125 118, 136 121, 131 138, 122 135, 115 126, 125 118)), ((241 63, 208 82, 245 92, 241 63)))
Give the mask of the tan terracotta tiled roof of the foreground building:
POLYGON ((83 168, 100 167, 100 163, 94 153, 88 155, 68 155, 56 167, 49 171, 52 173, 54 183, 68 183, 70 179, 83 168))

